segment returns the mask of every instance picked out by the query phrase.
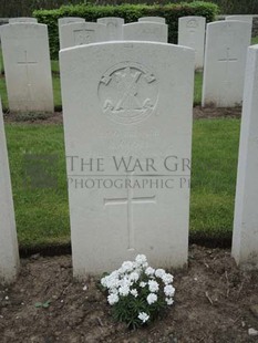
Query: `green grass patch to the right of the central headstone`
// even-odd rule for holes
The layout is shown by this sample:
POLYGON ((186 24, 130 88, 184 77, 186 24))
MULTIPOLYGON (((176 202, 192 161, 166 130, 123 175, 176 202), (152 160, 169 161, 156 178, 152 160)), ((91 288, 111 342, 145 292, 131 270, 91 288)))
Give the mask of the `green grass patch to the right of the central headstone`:
POLYGON ((239 119, 194 122, 192 236, 230 238, 239 127, 239 119))

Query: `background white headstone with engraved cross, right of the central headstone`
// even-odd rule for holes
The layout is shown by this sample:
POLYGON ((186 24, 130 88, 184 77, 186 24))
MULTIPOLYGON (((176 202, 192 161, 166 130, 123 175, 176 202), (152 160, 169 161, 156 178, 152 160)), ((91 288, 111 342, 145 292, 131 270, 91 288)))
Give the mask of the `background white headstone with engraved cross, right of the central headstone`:
POLYGON ((251 25, 240 21, 207 24, 203 106, 233 107, 242 101, 251 25))

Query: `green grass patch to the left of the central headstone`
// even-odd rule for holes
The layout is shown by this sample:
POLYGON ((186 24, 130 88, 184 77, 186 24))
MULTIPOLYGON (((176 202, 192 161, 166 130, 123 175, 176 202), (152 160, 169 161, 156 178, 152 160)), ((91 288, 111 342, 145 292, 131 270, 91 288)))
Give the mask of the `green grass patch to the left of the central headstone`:
POLYGON ((6 125, 17 228, 23 248, 68 242, 69 208, 61 125, 6 125), (58 187, 31 188, 25 184, 24 155, 56 155, 58 187))

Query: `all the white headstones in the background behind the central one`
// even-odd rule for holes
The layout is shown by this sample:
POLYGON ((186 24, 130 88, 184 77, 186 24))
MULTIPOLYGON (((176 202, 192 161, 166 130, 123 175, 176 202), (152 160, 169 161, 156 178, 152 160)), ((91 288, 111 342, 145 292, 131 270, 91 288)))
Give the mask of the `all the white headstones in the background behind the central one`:
MULTIPOLYGON (((227 19, 241 21, 227 20, 207 25, 205 63, 205 18, 179 19, 178 44, 195 50, 196 69, 205 64, 203 106, 230 107, 242 101, 251 17, 227 19)), ((123 22, 120 18, 102 18, 97 23, 81 18, 62 18, 59 20, 60 44, 68 48, 122 39, 167 42, 167 25, 163 18, 142 18, 131 24, 123 22)), ((53 90, 48 29, 33 18, 11 19, 10 23, 0 28, 9 108, 12 112, 51 113, 53 90)))

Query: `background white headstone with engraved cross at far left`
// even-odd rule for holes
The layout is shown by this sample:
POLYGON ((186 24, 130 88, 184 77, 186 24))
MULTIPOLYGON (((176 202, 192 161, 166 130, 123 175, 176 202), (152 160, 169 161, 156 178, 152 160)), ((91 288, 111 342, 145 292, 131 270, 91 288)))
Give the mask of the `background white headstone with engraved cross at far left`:
POLYGON ((0 30, 10 111, 53 112, 47 25, 13 23, 0 30))

